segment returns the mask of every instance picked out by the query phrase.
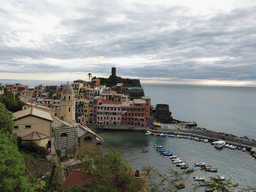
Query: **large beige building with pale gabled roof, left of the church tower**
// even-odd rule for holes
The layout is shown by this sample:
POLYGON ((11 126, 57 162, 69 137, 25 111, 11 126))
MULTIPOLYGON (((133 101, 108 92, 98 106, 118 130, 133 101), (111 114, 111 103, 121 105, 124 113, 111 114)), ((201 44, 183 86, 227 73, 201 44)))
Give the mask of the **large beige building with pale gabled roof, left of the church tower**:
POLYGON ((50 146, 52 116, 34 107, 13 113, 13 133, 21 142, 35 142, 42 147, 50 146))

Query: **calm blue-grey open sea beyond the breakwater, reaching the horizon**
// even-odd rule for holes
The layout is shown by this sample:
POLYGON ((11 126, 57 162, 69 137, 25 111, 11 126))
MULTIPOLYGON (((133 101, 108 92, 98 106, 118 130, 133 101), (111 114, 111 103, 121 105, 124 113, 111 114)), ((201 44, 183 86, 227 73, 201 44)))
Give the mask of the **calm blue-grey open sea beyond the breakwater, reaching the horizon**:
POLYGON ((143 85, 152 104, 169 104, 172 116, 199 127, 256 139, 256 88, 143 85))

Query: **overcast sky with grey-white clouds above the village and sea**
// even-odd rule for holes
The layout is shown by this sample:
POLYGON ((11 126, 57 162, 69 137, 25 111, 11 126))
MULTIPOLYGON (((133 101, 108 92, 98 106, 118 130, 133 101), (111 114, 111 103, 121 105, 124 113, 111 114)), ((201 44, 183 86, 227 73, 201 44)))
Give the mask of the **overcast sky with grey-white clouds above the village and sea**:
POLYGON ((0 79, 256 86, 255 0, 3 0, 0 79))

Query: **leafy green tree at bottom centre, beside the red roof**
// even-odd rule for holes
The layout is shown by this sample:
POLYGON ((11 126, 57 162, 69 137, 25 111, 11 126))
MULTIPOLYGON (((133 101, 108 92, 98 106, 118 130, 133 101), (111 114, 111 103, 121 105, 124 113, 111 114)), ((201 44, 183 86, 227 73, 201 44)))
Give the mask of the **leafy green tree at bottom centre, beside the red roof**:
MULTIPOLYGON (((121 156, 121 150, 109 148, 104 157, 95 157, 91 161, 93 153, 87 153, 87 159, 82 162, 86 178, 83 186, 73 187, 77 191, 140 191, 145 180, 135 177, 134 171, 125 163, 121 156)), ((81 159, 81 155, 79 157, 81 159)))

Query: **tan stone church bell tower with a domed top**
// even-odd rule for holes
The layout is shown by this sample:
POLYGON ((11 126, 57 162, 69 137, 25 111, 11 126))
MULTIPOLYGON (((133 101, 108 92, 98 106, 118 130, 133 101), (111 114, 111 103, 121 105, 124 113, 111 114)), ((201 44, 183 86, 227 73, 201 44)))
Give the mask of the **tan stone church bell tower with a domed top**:
POLYGON ((75 93, 69 82, 65 85, 61 92, 60 107, 61 107, 61 118, 69 123, 75 123, 75 106, 76 99, 75 93))

